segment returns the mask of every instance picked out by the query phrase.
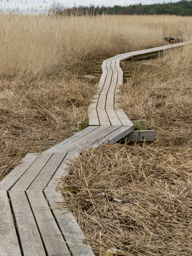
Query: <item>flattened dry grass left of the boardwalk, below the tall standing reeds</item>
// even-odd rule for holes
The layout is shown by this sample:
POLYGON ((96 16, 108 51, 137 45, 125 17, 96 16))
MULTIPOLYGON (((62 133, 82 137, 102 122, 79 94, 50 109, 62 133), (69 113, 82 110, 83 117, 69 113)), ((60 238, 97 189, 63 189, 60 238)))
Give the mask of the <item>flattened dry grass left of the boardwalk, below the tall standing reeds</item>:
POLYGON ((15 162, 15 148, 42 152, 70 137, 79 120, 88 122, 87 108, 96 84, 74 79, 2 81, 0 90, 2 179, 15 162))

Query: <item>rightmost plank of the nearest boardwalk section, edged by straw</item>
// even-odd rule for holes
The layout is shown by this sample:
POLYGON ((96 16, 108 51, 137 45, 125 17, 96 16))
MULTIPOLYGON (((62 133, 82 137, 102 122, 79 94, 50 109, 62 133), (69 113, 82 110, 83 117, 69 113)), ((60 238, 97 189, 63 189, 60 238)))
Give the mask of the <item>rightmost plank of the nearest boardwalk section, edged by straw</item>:
POLYGON ((70 243, 68 246, 71 254, 73 256, 95 256, 93 250, 89 248, 90 244, 83 242, 84 235, 72 212, 68 209, 58 208, 63 203, 62 195, 58 192, 48 191, 45 191, 45 195, 65 240, 70 243))

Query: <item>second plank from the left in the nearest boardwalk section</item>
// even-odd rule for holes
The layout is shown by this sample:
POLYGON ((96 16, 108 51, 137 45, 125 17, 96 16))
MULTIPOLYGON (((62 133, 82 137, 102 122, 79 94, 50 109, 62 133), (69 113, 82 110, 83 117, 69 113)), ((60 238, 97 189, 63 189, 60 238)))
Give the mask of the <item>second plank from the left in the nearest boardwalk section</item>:
POLYGON ((41 236, 25 192, 9 191, 9 196, 23 255, 46 256, 41 236))

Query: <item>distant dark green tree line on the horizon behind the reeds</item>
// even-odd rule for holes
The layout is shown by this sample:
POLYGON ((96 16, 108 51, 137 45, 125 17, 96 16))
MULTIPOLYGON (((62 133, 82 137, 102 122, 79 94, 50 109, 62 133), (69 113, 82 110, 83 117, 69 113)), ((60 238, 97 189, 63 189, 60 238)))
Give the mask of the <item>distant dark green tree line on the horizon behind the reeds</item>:
MULTIPOLYGON (((56 6, 55 6, 56 7, 56 6)), ((61 7, 61 6, 60 6, 61 7)), ((63 6, 62 6, 63 7, 63 6)), ((57 6, 55 10, 59 14, 76 14, 76 15, 99 15, 99 14, 117 14, 117 15, 158 15, 158 14, 169 14, 169 15, 182 15, 191 16, 192 15, 192 0, 181 0, 179 2, 170 3, 154 3, 145 4, 142 3, 129 5, 129 6, 119 6, 115 5, 113 7, 99 7, 99 6, 74 6, 70 9, 59 8, 57 6)))

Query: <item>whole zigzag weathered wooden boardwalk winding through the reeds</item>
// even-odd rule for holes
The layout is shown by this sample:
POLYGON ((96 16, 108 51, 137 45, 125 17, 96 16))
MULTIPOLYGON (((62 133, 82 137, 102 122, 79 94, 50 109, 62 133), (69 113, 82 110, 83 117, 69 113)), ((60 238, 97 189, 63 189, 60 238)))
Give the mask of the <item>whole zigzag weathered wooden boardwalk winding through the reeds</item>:
POLYGON ((129 52, 103 61, 99 89, 89 107, 89 127, 41 154, 29 153, 0 182, 0 256, 94 256, 73 214, 60 209, 58 179, 81 149, 114 143, 131 134, 134 125, 118 107, 123 83, 120 61, 153 56, 191 44, 129 52))

